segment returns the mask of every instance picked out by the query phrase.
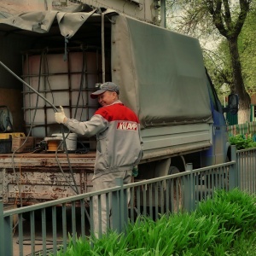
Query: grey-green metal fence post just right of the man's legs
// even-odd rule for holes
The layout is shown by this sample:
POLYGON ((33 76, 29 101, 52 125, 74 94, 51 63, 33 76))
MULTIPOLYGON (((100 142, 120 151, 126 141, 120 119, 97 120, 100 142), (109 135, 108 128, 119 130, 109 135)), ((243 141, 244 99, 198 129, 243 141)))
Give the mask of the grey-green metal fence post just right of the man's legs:
POLYGON ((113 230, 121 233, 128 222, 128 201, 122 177, 116 177, 115 183, 120 189, 112 194, 113 230))

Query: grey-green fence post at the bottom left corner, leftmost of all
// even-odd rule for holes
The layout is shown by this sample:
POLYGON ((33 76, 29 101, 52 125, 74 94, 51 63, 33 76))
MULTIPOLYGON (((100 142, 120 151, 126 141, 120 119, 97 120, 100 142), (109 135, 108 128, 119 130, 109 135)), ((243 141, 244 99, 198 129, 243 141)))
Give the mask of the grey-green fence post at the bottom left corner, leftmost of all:
POLYGON ((13 234, 11 218, 3 217, 3 201, 0 201, 0 255, 13 255, 13 234))

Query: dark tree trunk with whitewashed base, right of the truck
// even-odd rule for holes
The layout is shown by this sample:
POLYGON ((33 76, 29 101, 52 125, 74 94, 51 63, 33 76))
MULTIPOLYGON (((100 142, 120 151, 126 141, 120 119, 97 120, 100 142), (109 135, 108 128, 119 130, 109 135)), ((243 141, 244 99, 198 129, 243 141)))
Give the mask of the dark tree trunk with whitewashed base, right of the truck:
POLYGON ((228 41, 234 79, 234 87, 230 88, 230 90, 239 96, 238 123, 243 124, 250 121, 251 98, 245 89, 241 76, 241 61, 238 52, 237 38, 228 38, 228 41))

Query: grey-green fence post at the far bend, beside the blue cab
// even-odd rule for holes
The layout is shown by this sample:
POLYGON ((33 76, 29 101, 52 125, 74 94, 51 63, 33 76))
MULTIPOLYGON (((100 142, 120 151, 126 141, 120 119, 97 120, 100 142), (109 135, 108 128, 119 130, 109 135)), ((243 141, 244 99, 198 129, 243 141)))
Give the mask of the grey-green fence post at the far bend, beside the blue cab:
POLYGON ((229 190, 240 187, 240 170, 238 170, 235 145, 231 145, 231 160, 236 161, 236 164, 230 166, 229 190))

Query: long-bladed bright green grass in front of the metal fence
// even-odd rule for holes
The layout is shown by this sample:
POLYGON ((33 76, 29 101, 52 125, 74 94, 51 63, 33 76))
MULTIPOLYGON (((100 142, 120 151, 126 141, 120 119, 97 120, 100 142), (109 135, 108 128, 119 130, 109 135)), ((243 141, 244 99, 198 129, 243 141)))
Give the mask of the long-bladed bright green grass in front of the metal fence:
POLYGON ((126 235, 109 232, 101 239, 79 238, 58 256, 256 255, 256 199, 234 189, 218 190, 195 212, 137 218, 126 235), (94 244, 90 247, 90 242, 94 244))

